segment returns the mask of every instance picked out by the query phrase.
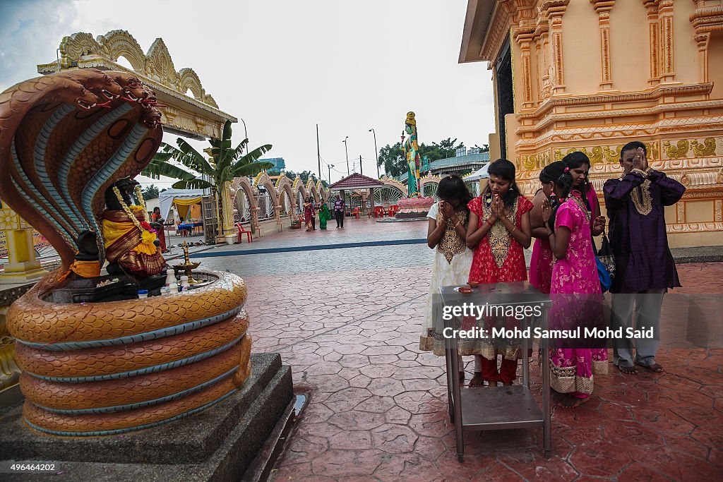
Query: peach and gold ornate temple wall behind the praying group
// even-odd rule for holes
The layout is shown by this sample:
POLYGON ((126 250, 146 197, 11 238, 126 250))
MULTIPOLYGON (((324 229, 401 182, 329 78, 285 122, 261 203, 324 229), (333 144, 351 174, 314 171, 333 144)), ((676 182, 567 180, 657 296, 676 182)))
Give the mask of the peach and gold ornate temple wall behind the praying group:
POLYGON ((523 194, 579 150, 602 204, 639 140, 687 188, 670 245, 723 244, 723 0, 469 0, 459 61, 489 62, 490 157, 515 162, 523 194))

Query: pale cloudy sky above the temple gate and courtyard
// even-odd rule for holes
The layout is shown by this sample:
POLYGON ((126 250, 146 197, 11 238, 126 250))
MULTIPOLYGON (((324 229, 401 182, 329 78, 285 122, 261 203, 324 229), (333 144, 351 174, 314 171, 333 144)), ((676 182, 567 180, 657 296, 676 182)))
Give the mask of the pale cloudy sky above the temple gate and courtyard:
MULTIPOLYGON (((223 111, 246 121, 251 147, 272 144, 293 171, 333 181, 376 175, 375 148, 400 139, 415 111, 419 142, 487 144, 494 129, 486 63, 458 64, 466 0, 142 2, 0 0, 0 91, 36 77, 61 38, 127 30, 147 51, 161 37, 176 70, 191 67, 223 111)), ((244 129, 234 125, 234 144, 244 129)), ((166 136, 166 142, 174 138, 166 136)), ((206 147, 196 143, 197 147, 206 147)), ((383 171, 382 171, 383 173, 383 171)), ((167 187, 167 182, 154 181, 167 187)))

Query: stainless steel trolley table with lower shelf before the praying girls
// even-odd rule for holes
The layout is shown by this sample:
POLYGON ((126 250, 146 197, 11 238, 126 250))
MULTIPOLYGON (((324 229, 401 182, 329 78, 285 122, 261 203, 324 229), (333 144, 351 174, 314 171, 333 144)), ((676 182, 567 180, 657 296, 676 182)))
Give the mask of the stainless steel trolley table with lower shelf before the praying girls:
MULTIPOLYGON (((441 302, 444 306, 461 306, 474 304, 483 306, 539 306, 542 311, 542 330, 547 330, 547 311, 552 306, 549 296, 540 293, 526 281, 515 283, 495 283, 477 285, 469 294, 460 293, 459 286, 440 288, 441 302)), ((469 287, 468 287, 469 288, 469 287)), ((444 319, 438 326, 458 329, 454 319, 444 319)), ((521 329, 529 326, 529 320, 521 320, 521 329)), ((447 365, 447 392, 449 400, 450 421, 454 423, 457 442, 457 458, 464 458, 463 430, 500 430, 521 429, 542 426, 544 439, 544 456, 549 458, 550 442, 550 409, 549 409, 549 345, 542 338, 542 410, 532 396, 529 374, 529 348, 531 340, 522 340, 522 384, 511 387, 486 387, 461 389, 459 362, 456 356, 458 340, 456 337, 446 338, 445 358, 447 365)))

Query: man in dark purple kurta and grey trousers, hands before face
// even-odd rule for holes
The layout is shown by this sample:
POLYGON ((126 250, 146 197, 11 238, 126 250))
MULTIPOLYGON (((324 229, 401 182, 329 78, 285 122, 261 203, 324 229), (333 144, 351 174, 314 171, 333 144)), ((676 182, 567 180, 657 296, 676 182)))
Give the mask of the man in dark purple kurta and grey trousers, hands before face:
POLYGON ((660 343, 659 325, 663 294, 680 286, 665 232, 664 207, 683 197, 685 186, 648 165, 642 142, 628 142, 620 150, 623 174, 604 185, 605 206, 610 218, 610 244, 615 254, 615 278, 612 282, 611 328, 623 328, 623 337, 614 340, 612 363, 625 374, 637 374, 635 366, 662 371, 655 362, 660 343), (654 338, 625 337, 636 330, 653 328, 654 338))

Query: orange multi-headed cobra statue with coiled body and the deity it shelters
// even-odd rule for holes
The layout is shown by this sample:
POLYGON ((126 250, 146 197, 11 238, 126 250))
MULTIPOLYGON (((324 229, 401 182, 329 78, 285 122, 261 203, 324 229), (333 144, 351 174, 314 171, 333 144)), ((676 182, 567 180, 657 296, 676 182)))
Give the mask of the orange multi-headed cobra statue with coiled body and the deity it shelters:
POLYGON ((230 273, 172 296, 54 302, 79 279, 95 286, 106 260, 108 272, 139 283, 165 267, 147 213, 128 197, 161 142, 155 106, 132 74, 95 69, 0 94, 0 198, 61 257, 7 313, 23 415, 44 433, 108 435, 173 421, 249 376, 246 287, 230 273))

